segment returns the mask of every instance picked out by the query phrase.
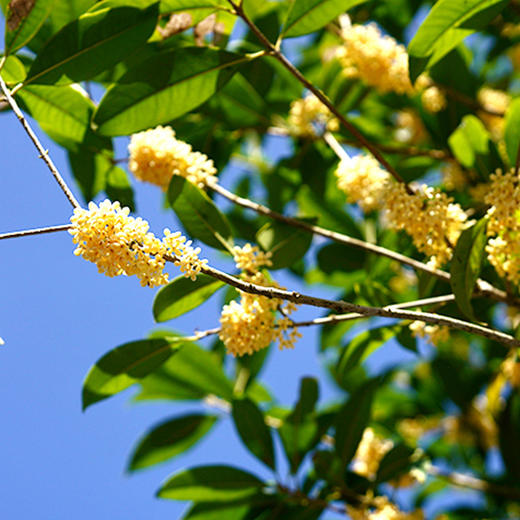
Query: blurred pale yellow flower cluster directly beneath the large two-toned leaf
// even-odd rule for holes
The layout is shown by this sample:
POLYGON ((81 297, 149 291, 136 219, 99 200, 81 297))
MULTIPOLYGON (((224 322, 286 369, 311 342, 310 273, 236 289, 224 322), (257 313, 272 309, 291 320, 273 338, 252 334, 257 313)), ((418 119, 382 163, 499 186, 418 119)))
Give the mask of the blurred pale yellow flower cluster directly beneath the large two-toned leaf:
POLYGON ((180 175, 199 188, 216 181, 217 170, 213 161, 176 139, 169 126, 158 126, 132 135, 128 151, 128 167, 136 178, 156 184, 163 190, 168 188, 173 175, 180 175))

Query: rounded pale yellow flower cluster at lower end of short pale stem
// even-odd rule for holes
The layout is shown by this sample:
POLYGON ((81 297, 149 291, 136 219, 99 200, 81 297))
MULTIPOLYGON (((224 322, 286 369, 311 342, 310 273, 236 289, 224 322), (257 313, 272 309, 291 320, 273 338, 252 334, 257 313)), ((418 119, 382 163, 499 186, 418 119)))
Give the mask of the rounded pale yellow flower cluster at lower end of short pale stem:
POLYGON ((335 175, 349 202, 357 202, 366 212, 381 207, 390 176, 374 157, 360 154, 343 159, 335 175))

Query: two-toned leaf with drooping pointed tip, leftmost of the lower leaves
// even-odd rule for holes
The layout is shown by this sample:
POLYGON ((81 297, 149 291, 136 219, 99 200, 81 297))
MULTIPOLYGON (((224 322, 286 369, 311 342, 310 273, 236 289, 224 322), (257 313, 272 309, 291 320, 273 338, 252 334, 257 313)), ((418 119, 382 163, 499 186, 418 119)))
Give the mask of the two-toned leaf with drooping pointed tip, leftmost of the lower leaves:
POLYGON ((180 346, 179 340, 156 338, 132 341, 111 350, 89 370, 83 382, 83 410, 137 383, 180 346))

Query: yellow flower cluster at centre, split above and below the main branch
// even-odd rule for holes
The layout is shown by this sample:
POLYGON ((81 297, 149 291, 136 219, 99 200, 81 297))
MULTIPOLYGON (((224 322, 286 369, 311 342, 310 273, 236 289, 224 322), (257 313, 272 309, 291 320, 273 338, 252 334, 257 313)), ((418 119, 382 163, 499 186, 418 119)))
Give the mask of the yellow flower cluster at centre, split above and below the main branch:
MULTIPOLYGON (((278 287, 260 271, 262 266, 271 265, 269 253, 246 244, 243 248, 234 248, 234 259, 237 267, 244 271, 242 278, 245 281, 264 287, 278 287)), ((276 298, 241 292, 239 302, 234 300, 222 309, 219 337, 233 356, 253 354, 273 341, 278 341, 280 349, 294 348, 301 334, 287 315, 295 309, 292 302, 284 304, 276 298), (277 310, 283 313, 278 322, 277 310)))

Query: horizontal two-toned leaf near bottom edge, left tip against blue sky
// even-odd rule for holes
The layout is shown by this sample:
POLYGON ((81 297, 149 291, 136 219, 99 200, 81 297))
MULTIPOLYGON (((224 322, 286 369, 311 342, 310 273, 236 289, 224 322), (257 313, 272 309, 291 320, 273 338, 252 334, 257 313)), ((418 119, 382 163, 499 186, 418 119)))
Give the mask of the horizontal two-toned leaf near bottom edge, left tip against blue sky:
POLYGON ((196 502, 229 502, 255 495, 264 483, 232 466, 198 466, 170 477, 157 496, 196 502))

